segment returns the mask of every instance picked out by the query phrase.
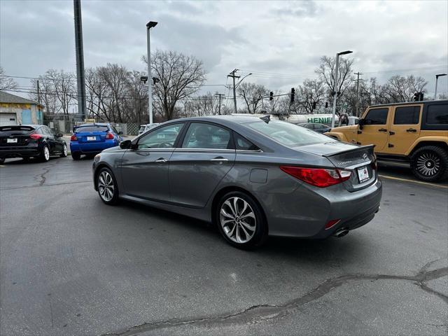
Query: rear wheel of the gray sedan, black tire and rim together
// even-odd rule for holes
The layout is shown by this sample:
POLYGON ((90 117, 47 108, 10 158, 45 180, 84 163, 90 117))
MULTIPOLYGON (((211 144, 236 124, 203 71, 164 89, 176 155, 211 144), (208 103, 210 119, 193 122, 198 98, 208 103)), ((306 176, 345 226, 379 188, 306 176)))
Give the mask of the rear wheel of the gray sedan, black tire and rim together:
POLYGON ((253 197, 240 191, 232 191, 221 197, 214 211, 218 230, 230 245, 242 249, 251 249, 265 243, 268 232, 267 221, 261 207, 253 200, 253 197), (235 199, 237 199, 237 216, 232 214, 232 208, 235 208, 235 199), (229 204, 234 205, 230 207, 229 204), (227 216, 223 215, 222 210, 227 216), (252 212, 254 216, 249 216, 249 212, 252 212), (234 223, 235 225, 232 226, 234 223), (254 230, 251 228, 254 228, 254 230))

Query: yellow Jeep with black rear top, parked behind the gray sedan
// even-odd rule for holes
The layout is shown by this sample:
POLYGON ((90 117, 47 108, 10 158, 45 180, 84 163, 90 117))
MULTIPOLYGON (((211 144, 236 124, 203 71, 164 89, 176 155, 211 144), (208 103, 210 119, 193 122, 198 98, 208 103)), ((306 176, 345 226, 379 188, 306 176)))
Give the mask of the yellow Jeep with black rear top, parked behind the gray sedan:
POLYGON ((374 144, 379 159, 410 162, 423 181, 448 177, 448 100, 369 106, 358 125, 325 134, 352 144, 374 144))

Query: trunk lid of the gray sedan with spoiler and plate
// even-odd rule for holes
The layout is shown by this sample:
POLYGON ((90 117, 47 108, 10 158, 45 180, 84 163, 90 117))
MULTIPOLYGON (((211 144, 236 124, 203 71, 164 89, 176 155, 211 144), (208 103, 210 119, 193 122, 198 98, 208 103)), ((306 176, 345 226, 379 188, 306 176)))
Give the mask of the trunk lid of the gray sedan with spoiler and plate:
POLYGON ((374 145, 357 146, 344 142, 328 142, 295 148, 299 151, 321 155, 336 168, 350 170, 350 179, 343 184, 350 192, 361 190, 377 180, 377 158, 374 145))

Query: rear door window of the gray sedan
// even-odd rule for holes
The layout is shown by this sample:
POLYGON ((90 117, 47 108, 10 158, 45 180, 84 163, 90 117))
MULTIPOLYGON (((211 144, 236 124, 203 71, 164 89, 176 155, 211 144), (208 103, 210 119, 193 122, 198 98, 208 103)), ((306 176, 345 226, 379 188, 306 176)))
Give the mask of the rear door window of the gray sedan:
POLYGON ((230 132, 222 127, 204 123, 191 123, 182 148, 230 148, 230 132))

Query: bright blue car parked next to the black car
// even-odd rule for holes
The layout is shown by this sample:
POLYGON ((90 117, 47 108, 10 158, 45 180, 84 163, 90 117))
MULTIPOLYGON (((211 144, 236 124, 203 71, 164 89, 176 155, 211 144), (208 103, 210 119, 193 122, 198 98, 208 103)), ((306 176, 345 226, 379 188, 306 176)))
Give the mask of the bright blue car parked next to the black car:
POLYGON ((79 160, 83 154, 93 155, 118 146, 123 141, 121 134, 109 123, 76 126, 70 139, 71 158, 79 160))

